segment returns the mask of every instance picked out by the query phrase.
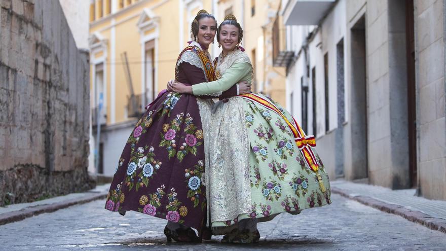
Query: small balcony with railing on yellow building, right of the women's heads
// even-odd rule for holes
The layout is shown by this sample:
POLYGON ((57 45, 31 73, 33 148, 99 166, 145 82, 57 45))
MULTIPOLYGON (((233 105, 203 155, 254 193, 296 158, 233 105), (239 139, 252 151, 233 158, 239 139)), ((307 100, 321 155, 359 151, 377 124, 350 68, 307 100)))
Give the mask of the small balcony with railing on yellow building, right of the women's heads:
POLYGON ((287 66, 294 56, 293 51, 286 51, 285 26, 282 17, 276 15, 273 26, 273 65, 287 66))

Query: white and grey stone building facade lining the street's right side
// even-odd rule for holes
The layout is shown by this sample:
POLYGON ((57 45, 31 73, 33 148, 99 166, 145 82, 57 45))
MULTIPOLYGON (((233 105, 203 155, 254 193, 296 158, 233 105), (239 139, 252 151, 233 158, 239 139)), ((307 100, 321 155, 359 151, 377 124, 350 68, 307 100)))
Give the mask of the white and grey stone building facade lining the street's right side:
POLYGON ((282 1, 287 109, 333 180, 446 200, 443 2, 282 1))

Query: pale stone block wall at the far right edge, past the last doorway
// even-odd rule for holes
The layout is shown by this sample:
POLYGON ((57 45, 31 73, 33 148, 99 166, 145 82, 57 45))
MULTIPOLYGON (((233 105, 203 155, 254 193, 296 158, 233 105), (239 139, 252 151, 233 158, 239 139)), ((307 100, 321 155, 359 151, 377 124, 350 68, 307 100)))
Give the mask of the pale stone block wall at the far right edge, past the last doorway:
POLYGON ((446 200, 445 2, 415 1, 421 194, 446 200))

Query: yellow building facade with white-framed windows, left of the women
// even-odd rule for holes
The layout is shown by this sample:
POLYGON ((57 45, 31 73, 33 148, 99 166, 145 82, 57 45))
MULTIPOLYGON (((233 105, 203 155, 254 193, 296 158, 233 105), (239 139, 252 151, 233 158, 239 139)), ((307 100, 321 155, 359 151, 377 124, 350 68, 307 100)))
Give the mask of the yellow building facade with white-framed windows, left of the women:
POLYGON ((191 21, 200 9, 211 12, 213 4, 198 0, 91 1, 91 147, 98 154, 97 173, 113 175, 136 118, 174 78, 178 54, 191 40, 191 21))

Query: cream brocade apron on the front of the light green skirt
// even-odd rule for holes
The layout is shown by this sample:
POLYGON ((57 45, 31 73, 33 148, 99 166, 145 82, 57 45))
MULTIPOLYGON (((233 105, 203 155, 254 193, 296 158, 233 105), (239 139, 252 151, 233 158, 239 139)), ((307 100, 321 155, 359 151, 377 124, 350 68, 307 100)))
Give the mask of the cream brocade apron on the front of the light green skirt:
MULTIPOLYGON (((208 203, 211 222, 235 219, 251 210, 250 144, 244 121, 242 98, 214 105, 209 132, 208 203)), ((204 130, 204 129, 203 129, 204 130)), ((228 228, 213 228, 224 234, 228 228)))

